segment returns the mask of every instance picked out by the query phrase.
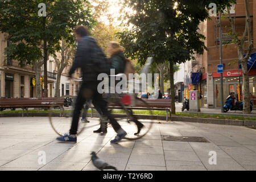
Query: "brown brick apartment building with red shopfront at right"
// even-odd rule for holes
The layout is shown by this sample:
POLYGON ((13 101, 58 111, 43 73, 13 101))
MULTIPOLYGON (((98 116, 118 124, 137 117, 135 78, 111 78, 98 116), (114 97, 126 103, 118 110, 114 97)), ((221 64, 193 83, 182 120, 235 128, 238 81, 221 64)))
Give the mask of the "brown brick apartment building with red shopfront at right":
MULTIPOLYGON (((253 52, 256 52, 256 0, 250 0, 251 30, 254 43, 253 52)), ((234 17, 236 31, 238 36, 242 36, 245 30, 245 2, 237 0, 233 5, 232 16, 234 17)), ((238 63, 230 64, 238 59, 237 46, 231 43, 228 36, 230 31, 230 22, 228 19, 221 19, 222 35, 219 34, 219 18, 212 17, 211 20, 205 20, 199 25, 200 32, 206 37, 205 46, 208 51, 203 55, 196 55, 196 60, 185 63, 184 78, 185 96, 188 97, 188 91, 192 89, 200 90, 202 99, 201 107, 218 108, 221 107, 220 98, 220 73, 217 73, 217 64, 220 64, 220 36, 222 36, 222 63, 224 64, 223 88, 225 98, 233 93, 238 100, 242 100, 242 70, 238 63), (192 75, 193 74, 193 75, 192 75), (193 82, 193 76, 200 75, 200 80, 193 82)), ((246 46, 244 47, 246 51, 246 46)), ((256 63, 255 63, 256 64, 256 63)), ((249 72, 250 94, 256 106, 256 68, 251 67, 249 72)))

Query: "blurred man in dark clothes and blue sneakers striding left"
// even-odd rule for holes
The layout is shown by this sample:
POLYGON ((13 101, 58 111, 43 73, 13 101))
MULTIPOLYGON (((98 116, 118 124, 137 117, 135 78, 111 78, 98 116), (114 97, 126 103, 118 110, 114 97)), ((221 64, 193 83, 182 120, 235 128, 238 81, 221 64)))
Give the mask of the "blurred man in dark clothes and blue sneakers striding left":
POLYGON ((112 117, 108 109, 106 109, 106 101, 102 99, 102 95, 98 93, 97 86, 100 81, 97 80, 98 73, 96 72, 97 65, 94 64, 96 41, 88 36, 88 31, 85 26, 78 26, 75 28, 75 36, 78 41, 75 60, 69 71, 69 76, 75 72, 77 68, 81 68, 82 71, 82 85, 77 95, 75 110, 73 111, 73 119, 69 134, 65 134, 63 137, 58 137, 60 142, 76 142, 77 141, 77 127, 79 123, 80 111, 86 100, 92 99, 93 102, 100 107, 102 113, 108 117, 113 129, 117 133, 115 139, 110 143, 118 143, 127 134, 125 130, 121 128, 119 123, 112 117))

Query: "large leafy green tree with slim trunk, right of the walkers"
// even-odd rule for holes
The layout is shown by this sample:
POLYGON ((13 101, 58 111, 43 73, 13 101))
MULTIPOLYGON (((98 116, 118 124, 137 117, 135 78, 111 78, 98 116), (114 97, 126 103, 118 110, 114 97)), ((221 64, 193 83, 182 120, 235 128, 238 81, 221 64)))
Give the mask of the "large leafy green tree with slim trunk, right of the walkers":
MULTIPOLYGON (((170 71, 171 99, 175 100, 174 65, 195 59, 195 53, 202 54, 206 47, 205 36, 199 33, 198 25, 209 18, 209 3, 226 5, 229 1, 147 1, 127 0, 126 4, 136 14, 125 14, 131 30, 118 33, 126 48, 126 55, 137 58, 142 64, 147 57, 162 64, 168 61, 170 71)), ((175 103, 171 104, 175 114, 175 103)))

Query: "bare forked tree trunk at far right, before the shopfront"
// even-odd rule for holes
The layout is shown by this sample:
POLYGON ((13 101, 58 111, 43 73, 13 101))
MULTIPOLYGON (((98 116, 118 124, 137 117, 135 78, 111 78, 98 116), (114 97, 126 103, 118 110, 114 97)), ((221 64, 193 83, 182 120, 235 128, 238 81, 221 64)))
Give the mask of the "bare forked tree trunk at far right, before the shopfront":
POLYGON ((247 70, 247 60, 249 59, 251 52, 253 50, 253 40, 251 39, 251 19, 250 19, 250 11, 249 11, 249 0, 245 0, 245 11, 246 11, 246 23, 245 23, 245 31, 241 38, 238 37, 238 33, 236 31, 234 18, 230 15, 230 7, 226 7, 228 10, 227 18, 230 20, 232 27, 232 42, 237 44, 237 52, 238 52, 238 63, 241 63, 242 72, 243 72, 243 114, 250 114, 250 91, 249 91, 249 76, 247 70), (248 47, 246 51, 246 55, 243 56, 243 48, 246 46, 246 40, 248 40, 248 47))

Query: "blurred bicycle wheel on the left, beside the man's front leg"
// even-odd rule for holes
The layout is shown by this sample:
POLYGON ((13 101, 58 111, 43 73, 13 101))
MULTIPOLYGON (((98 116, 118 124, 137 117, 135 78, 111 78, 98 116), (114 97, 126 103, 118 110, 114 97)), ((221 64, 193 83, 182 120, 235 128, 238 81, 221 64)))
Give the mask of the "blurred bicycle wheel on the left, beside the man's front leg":
MULTIPOLYGON (((72 97, 74 100, 73 96, 63 96, 60 98, 56 98, 56 102, 63 100, 64 97, 72 97)), ((74 103, 74 102, 73 102, 74 103)), ((60 136, 63 136, 64 134, 69 132, 69 129, 71 127, 72 123, 72 115, 73 115, 73 105, 67 107, 66 110, 68 110, 67 113, 64 113, 61 117, 53 117, 53 113, 56 113, 56 109, 54 109, 53 106, 50 107, 49 109, 49 122, 52 126, 52 129, 60 136)), ((85 128, 85 123, 81 122, 81 119, 79 118, 79 125, 77 127, 77 135, 79 135, 82 130, 85 128)))

